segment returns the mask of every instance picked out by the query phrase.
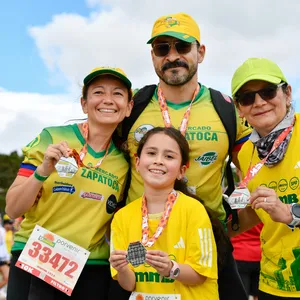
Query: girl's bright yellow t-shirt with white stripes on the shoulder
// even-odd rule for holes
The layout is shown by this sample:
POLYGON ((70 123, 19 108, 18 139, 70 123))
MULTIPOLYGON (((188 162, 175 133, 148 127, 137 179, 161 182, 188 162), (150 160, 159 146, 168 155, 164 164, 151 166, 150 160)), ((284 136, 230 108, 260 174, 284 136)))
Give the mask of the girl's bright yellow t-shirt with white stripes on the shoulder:
MULTIPOLYGON (((130 242, 142 238, 141 198, 119 210, 112 222, 111 251, 127 250, 130 242)), ((149 220, 150 236, 156 231, 158 218, 149 220)), ((203 205, 182 193, 176 200, 170 219, 151 250, 167 252, 177 263, 189 264, 196 272, 207 276, 201 285, 184 285, 162 278, 148 264, 132 268, 136 276, 136 292, 152 294, 181 294, 181 299, 217 300, 217 253, 209 217, 203 205)), ((117 271, 111 268, 112 276, 117 271)))

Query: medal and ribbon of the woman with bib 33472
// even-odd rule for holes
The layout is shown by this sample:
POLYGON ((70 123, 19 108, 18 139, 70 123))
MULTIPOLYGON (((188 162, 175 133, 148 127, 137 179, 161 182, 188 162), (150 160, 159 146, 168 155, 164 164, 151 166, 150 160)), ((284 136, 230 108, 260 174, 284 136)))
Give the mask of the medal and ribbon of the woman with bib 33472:
POLYGON ((71 149, 68 153, 69 157, 62 157, 55 165, 57 173, 60 177, 72 178, 74 174, 77 172, 78 168, 80 167, 98 168, 103 162, 103 160, 106 158, 111 145, 111 140, 106 146, 104 156, 97 162, 95 166, 86 166, 83 163, 83 159, 88 152, 87 141, 88 141, 89 125, 87 122, 82 123, 82 133, 83 133, 85 143, 82 149, 80 150, 80 154, 78 154, 78 152, 75 149, 71 149))

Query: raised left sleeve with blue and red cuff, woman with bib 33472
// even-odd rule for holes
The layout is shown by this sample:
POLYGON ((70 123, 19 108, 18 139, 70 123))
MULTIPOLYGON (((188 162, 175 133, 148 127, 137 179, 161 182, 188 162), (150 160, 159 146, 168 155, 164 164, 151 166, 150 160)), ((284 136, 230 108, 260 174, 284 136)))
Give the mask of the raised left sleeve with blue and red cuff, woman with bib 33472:
POLYGON ((44 153, 47 147, 52 143, 50 133, 46 129, 43 129, 35 139, 22 149, 24 160, 20 166, 18 175, 25 177, 31 176, 35 169, 42 163, 44 153))

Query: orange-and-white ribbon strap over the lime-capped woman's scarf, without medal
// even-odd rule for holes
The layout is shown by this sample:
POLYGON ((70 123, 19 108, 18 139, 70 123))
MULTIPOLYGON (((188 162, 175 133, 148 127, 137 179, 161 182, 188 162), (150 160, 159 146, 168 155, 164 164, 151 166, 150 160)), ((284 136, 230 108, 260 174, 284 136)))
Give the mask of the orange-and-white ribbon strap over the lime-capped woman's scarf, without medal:
POLYGON ((263 167, 265 162, 267 161, 269 155, 277 149, 277 147, 284 141, 284 139, 287 137, 287 135, 290 133, 292 130, 293 126, 295 124, 295 118, 293 120, 293 123, 287 127, 279 136, 278 138, 274 141, 274 144, 272 146, 272 149, 270 150, 269 154, 262 159, 260 162, 256 163, 254 166, 249 167, 247 174, 245 178, 241 181, 239 184, 239 188, 245 188, 248 185, 248 182, 260 171, 260 169, 263 167))

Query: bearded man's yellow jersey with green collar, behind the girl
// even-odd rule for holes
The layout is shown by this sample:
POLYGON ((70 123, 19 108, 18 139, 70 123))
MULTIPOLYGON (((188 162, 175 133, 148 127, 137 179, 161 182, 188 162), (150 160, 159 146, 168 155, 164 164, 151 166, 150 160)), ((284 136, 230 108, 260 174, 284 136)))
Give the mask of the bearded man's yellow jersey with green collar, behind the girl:
MULTIPOLYGON (((224 100, 225 101, 225 100, 224 100)), ((174 104, 167 101, 172 125, 179 128, 183 115, 190 101, 174 104)), ((138 142, 151 128, 164 126, 163 118, 157 100, 157 91, 148 106, 132 126, 128 136, 132 166, 135 165, 134 154, 138 142)), ((243 143, 251 132, 250 127, 242 124, 237 117, 236 145, 243 143)), ((209 90, 201 85, 199 94, 192 105, 186 139, 190 145, 190 167, 187 169, 187 185, 205 204, 224 217, 222 206, 222 169, 228 152, 228 137, 226 130, 214 109, 209 90)), ((143 181, 140 175, 132 168, 131 185, 128 202, 131 202, 143 193, 143 181)))

